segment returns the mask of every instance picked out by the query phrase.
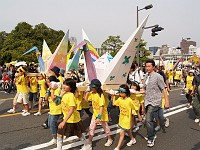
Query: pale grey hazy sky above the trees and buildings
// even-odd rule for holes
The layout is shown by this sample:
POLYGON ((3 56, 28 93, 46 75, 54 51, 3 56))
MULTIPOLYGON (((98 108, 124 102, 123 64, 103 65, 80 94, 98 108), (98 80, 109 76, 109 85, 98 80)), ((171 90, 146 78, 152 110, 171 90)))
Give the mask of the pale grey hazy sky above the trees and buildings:
POLYGON ((156 37, 146 29, 142 38, 149 46, 180 46, 182 38, 191 38, 200 46, 199 0, 1 0, 0 31, 11 32, 19 22, 33 26, 44 23, 67 32, 81 41, 85 30, 94 47, 108 36, 120 35, 126 42, 137 26, 137 6, 153 8, 139 11, 139 22, 149 15, 146 26, 164 28, 156 37))

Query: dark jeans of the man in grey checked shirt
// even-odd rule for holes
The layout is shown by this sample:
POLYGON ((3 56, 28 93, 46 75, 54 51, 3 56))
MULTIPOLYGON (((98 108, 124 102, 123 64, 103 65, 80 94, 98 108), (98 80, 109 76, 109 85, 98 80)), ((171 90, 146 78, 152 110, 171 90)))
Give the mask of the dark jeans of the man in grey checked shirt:
POLYGON ((160 107, 148 105, 146 106, 146 128, 148 140, 153 141, 155 137, 154 118, 158 114, 160 107))

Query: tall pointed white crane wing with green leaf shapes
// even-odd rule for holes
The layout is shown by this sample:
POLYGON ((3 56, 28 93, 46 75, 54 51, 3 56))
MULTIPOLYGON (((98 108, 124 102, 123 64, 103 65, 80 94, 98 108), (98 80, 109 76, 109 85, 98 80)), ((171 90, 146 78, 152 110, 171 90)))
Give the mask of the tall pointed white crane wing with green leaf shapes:
POLYGON ((148 16, 130 36, 112 61, 107 65, 103 73, 104 75, 98 77, 102 84, 114 85, 126 83, 127 76, 135 57, 137 46, 142 37, 147 19, 148 16))

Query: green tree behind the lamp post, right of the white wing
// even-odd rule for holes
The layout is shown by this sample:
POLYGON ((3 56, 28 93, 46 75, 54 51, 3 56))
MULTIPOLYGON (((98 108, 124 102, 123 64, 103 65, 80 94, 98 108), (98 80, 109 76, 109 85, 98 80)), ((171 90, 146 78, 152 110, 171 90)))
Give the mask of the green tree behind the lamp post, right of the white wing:
MULTIPOLYGON (((140 40, 139 42, 139 51, 140 51, 140 63, 145 62, 148 59, 148 56, 151 54, 147 49, 146 49, 147 42, 145 42, 143 39, 140 40)), ((137 61, 137 53, 135 55, 134 61, 137 61)))

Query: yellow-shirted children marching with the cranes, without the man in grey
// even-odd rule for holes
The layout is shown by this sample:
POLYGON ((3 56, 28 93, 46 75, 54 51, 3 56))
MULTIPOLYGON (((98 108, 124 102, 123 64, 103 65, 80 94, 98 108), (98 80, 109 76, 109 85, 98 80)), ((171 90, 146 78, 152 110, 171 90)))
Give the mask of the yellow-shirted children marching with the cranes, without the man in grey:
MULTIPOLYGON (((93 79, 86 91, 78 91, 76 83, 84 79, 81 79, 81 76, 73 70, 65 74, 63 69, 55 66, 48 75, 37 73, 27 76, 26 72, 25 67, 19 67, 15 73, 14 83, 17 93, 13 100, 13 108, 8 110, 8 112, 15 113, 16 106, 21 105, 23 108, 22 116, 29 116, 29 110, 34 105, 38 105, 38 110, 34 115, 40 116, 42 115, 43 106, 48 105, 49 115, 45 127, 48 126, 50 128, 52 134, 50 142, 57 144, 58 150, 62 149, 63 137, 68 138, 74 135, 83 141, 84 146, 82 150, 92 150, 92 140, 97 124, 103 127, 107 135, 105 147, 111 146, 113 139, 108 125, 110 115, 107 109, 110 102, 114 106, 118 106, 120 110, 118 122, 120 138, 115 150, 121 148, 124 135, 126 134, 130 137, 127 146, 136 144, 136 139, 133 137, 132 132, 137 132, 139 130, 138 122, 142 122, 145 119, 144 95, 140 92, 141 83, 130 81, 129 84, 120 85, 117 92, 111 92, 103 91, 101 89, 101 82, 98 79, 93 79), (92 112, 90 111, 89 102, 92 104, 92 112), (83 110, 91 117, 88 140, 85 138, 84 132, 86 128, 81 120, 83 110)), ((188 105, 192 103, 190 97, 192 76, 194 75, 192 73, 194 71, 189 71, 186 77, 188 105)), ((82 73, 81 75, 82 77, 84 76, 82 73)), ((176 74, 168 71, 166 76, 171 84, 173 82, 179 83, 182 79, 180 71, 176 74)), ((162 108, 164 108, 164 103, 163 99, 162 108)), ((161 109, 160 114, 154 116, 157 122, 156 127, 160 126, 159 119, 161 120, 162 117, 163 109, 161 109)), ((160 128, 155 128, 155 131, 158 130, 160 128)))

